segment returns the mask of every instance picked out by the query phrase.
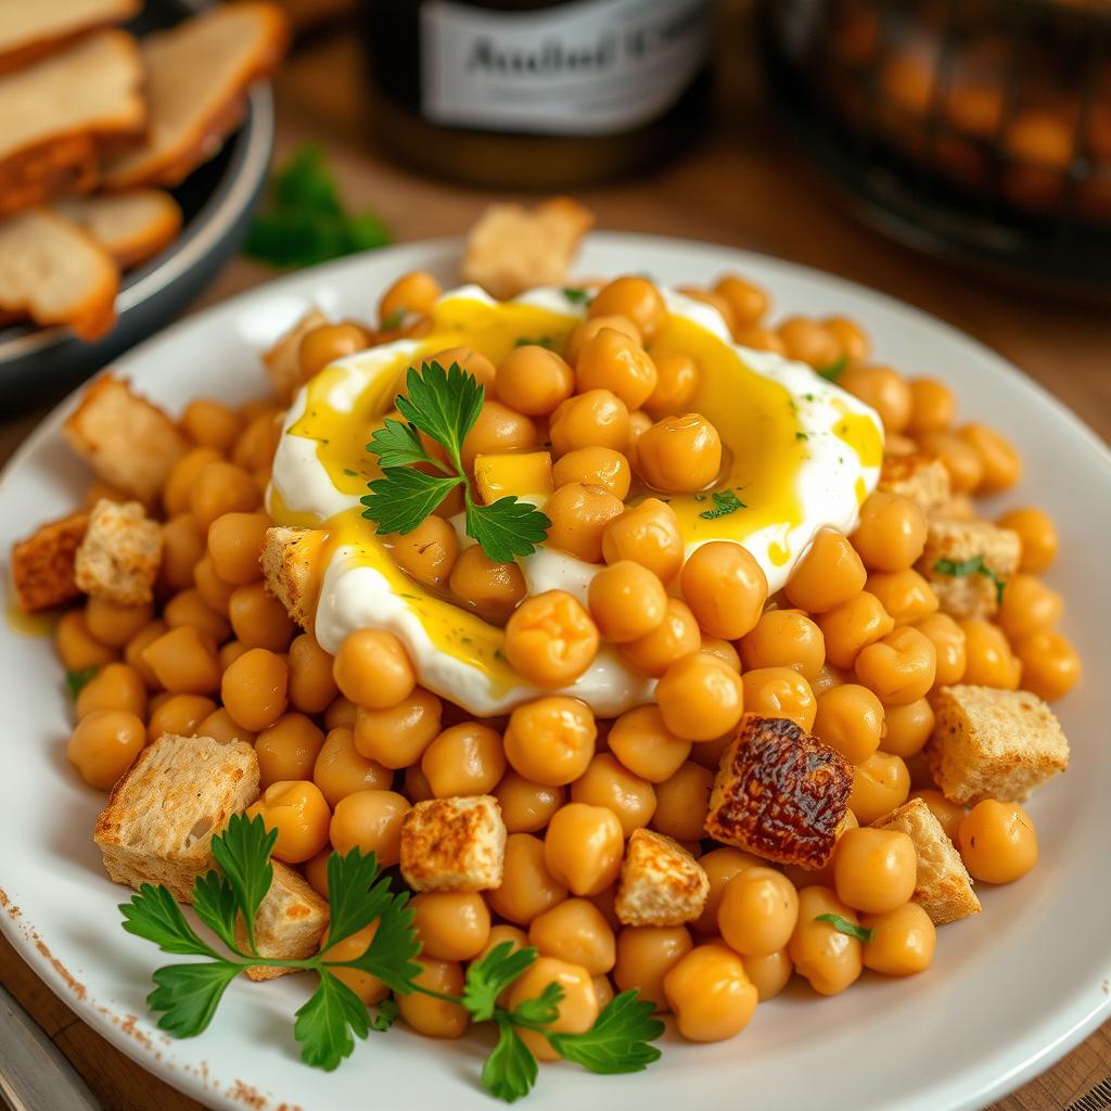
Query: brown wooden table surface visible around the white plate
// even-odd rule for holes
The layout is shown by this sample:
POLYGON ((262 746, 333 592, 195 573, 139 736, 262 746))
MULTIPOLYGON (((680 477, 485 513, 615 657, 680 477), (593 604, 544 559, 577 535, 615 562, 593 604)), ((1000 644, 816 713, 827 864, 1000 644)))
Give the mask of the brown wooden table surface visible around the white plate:
MULTIPOLYGON (((1104 439, 1111 438, 1108 311, 989 284, 893 244, 851 219, 777 133, 753 67, 739 46, 747 36, 743 16, 738 11, 725 19, 717 40, 731 61, 719 67, 723 77, 714 127, 697 148, 650 176, 580 191, 598 213, 599 227, 744 247, 873 286, 994 348, 1080 412, 1104 439)), ((400 240, 462 232, 492 199, 489 192, 416 178, 376 151, 358 48, 348 29, 318 34, 300 47, 279 76, 277 93, 278 157, 307 140, 324 146, 348 200, 378 209, 400 240)), ((263 269, 236 261, 201 303, 267 277, 263 269)), ((43 411, 0 424, 0 458, 10 454, 43 411)), ((43 1025, 109 1111, 198 1111, 197 1103, 143 1072, 79 1021, 2 939, 0 982, 43 1025)), ((1105 1027, 995 1107, 1060 1111, 1109 1072, 1111 1027, 1105 1027)))

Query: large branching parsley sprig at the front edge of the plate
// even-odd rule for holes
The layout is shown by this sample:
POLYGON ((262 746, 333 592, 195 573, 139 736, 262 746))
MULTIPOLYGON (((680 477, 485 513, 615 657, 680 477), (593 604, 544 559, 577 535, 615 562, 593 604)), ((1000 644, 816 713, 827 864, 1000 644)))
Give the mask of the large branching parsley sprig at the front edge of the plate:
POLYGON ((413 911, 406 892, 391 890, 380 874, 374 854, 352 849, 346 857, 333 853, 328 860, 330 921, 328 940, 320 952, 301 959, 259 954, 254 924, 273 882, 270 853, 277 832, 267 832, 261 818, 237 814, 227 829, 212 839, 217 868, 197 878, 193 910, 201 923, 222 942, 220 952, 206 941, 186 919, 173 895, 164 887, 142 884, 130 902, 123 903, 123 929, 152 941, 163 952, 200 957, 200 961, 168 964, 153 974, 154 990, 147 998, 159 1013, 161 1029, 178 1038, 204 1031, 228 985, 248 968, 267 965, 317 975, 317 989, 293 1022, 293 1037, 301 1057, 319 1069, 336 1069, 371 1030, 386 1031, 398 1017, 394 999, 386 999, 372 1013, 336 974, 338 969, 356 969, 376 975, 396 994, 419 992, 464 1008, 474 1022, 492 1021, 498 1042, 482 1068, 482 1083, 499 1099, 512 1102, 527 1095, 536 1084, 537 1060, 520 1031, 544 1037, 567 1061, 591 1072, 639 1072, 660 1057, 650 1044, 663 1032, 663 1023, 652 1018, 653 1007, 622 992, 583 1033, 556 1033, 548 1027, 559 1017, 563 989, 549 983, 539 995, 513 1008, 498 1004, 498 997, 537 960, 537 950, 513 949, 512 942, 496 945, 474 961, 467 972, 462 995, 448 995, 417 983, 421 967, 413 911), (340 941, 377 922, 366 951, 350 960, 330 959, 340 941))

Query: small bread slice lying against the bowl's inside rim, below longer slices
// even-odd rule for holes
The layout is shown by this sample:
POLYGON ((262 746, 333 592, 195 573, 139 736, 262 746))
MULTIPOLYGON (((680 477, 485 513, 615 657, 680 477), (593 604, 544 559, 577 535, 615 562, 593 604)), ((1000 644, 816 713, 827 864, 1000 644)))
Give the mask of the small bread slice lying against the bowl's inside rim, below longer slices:
POLYGON ((121 270, 158 254, 181 231, 181 209, 161 189, 67 197, 53 209, 83 228, 121 270))

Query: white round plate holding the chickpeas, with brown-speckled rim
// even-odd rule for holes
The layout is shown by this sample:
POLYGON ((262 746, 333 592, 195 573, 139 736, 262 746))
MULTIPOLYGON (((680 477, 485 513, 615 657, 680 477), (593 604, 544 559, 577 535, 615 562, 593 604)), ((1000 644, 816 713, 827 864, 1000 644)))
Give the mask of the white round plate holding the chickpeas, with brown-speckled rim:
MULTIPOLYGON (((118 364, 173 411, 196 396, 262 391, 257 352, 310 302, 366 316, 411 269, 454 280, 459 243, 380 251, 293 274, 177 324, 118 364)), ((710 244, 597 234, 582 274, 648 272, 705 281, 737 269, 769 287, 778 312, 845 313, 871 330, 879 359, 945 379, 963 418, 1020 447, 1027 477, 1007 503, 1048 507, 1062 551, 1049 575, 1085 681, 1060 705, 1072 768, 1034 799, 1041 863, 1021 883, 981 889, 984 913, 940 931, 933 968, 907 981, 865 975, 835 999, 795 985, 761 1005, 740 1038, 682 1044, 668 1034, 647 1072, 599 1078, 546 1065, 528 1105, 642 1111, 677 1105, 949 1111, 980 1108, 1049 1068, 1111 1005, 1111 454, 1075 417, 987 349, 935 320, 828 274, 710 244)), ((87 476, 58 434, 72 401, 31 437, 0 480, 0 550, 78 503, 87 476)), ((104 878, 90 832, 102 795, 66 763, 70 707, 46 640, 3 629, 0 739, 0 925, 78 1014, 169 1083, 214 1107, 347 1111, 374 1104, 457 1111, 496 1104, 478 1084, 487 1042, 434 1043, 394 1028, 371 1034, 326 1074, 301 1064, 291 1017, 307 984, 237 983, 201 1038, 171 1041, 150 1021, 150 973, 172 958, 120 929, 126 892, 104 878)))

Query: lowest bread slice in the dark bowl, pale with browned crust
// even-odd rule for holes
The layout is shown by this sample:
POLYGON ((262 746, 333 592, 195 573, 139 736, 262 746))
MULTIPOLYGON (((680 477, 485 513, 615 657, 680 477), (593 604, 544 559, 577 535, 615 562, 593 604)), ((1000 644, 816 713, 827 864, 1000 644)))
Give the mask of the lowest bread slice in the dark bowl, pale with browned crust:
POLYGON ((46 209, 0 221, 0 310, 96 340, 116 322, 120 271, 76 224, 46 209))

